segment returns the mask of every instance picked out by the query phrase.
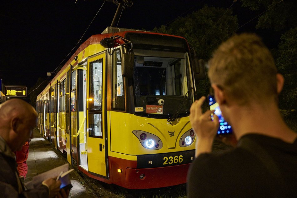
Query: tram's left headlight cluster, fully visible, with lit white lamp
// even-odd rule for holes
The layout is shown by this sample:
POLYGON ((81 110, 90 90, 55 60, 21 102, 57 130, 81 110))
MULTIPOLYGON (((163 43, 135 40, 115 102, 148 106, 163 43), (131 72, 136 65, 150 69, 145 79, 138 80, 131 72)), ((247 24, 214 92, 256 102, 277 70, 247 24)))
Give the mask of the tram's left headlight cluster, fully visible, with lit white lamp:
POLYGON ((144 148, 158 150, 163 147, 161 139, 154 134, 140 130, 134 130, 132 133, 138 138, 144 148))

